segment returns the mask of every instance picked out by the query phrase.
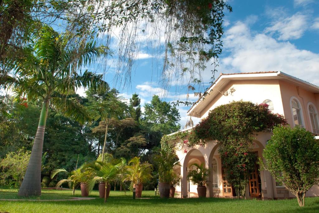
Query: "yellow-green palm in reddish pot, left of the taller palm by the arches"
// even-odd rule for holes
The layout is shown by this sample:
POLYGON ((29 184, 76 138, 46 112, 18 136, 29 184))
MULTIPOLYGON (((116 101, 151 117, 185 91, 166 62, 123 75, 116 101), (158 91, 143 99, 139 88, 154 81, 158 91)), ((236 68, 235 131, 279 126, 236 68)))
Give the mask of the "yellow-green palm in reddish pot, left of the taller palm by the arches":
POLYGON ((143 183, 152 178, 152 165, 148 162, 141 163, 140 158, 134 157, 126 167, 125 181, 132 181, 133 188, 136 190, 136 197, 142 196, 143 183))

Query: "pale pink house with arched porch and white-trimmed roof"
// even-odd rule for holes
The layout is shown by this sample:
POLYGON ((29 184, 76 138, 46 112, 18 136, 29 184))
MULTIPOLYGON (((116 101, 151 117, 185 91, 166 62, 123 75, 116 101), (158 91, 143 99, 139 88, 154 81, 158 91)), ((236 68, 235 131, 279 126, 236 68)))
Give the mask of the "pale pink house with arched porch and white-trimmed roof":
MULTIPOLYGON (((208 116, 210 110, 233 100, 267 103, 273 113, 284 115, 290 126, 300 125, 314 135, 319 135, 319 87, 291 75, 279 71, 221 74, 206 92, 208 95, 198 100, 188 111, 189 116, 203 119, 208 116)), ((256 159, 262 157, 263 148, 271 135, 271 132, 266 131, 256 133, 252 147, 256 159)), ((205 162, 205 166, 211 169, 207 196, 234 195, 234 188, 227 183, 223 175, 216 141, 207 141, 204 146, 182 145, 176 148, 176 155, 182 166, 175 168, 182 177, 181 186, 177 187, 176 191, 180 191, 182 197, 197 193, 197 186, 187 179, 188 171, 196 169, 190 168, 194 162, 205 162)), ((319 196, 319 186, 312 187, 306 196, 319 196)), ((256 163, 255 171, 250 174, 246 197, 277 199, 294 195, 277 183, 269 172, 259 171, 256 163)))

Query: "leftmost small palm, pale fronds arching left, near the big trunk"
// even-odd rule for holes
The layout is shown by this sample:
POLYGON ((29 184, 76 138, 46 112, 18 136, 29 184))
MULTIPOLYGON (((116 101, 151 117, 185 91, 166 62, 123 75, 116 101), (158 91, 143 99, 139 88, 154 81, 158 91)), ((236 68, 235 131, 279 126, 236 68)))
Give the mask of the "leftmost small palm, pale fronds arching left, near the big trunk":
POLYGON ((56 187, 60 187, 63 183, 67 183, 69 188, 72 188, 72 195, 74 195, 74 191, 78 186, 81 184, 81 182, 87 182, 93 177, 92 170, 87 168, 87 164, 84 163, 82 164, 79 168, 74 169, 71 172, 66 171, 65 169, 54 169, 51 173, 51 179, 56 176, 58 173, 65 173, 68 174, 69 177, 67 179, 62 179, 60 180, 57 184, 56 187))

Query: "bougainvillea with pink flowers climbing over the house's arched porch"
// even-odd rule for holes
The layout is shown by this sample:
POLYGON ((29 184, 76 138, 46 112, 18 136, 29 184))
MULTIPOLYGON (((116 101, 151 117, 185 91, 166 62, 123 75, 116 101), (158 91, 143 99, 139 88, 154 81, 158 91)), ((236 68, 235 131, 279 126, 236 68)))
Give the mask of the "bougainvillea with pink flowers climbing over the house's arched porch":
POLYGON ((254 168, 251 152, 255 132, 271 131, 286 119, 273 114, 267 104, 233 101, 211 110, 191 131, 162 138, 162 147, 172 152, 179 144, 204 146, 207 140, 217 140, 222 167, 227 181, 235 187, 237 196, 244 197, 249 172, 254 168))

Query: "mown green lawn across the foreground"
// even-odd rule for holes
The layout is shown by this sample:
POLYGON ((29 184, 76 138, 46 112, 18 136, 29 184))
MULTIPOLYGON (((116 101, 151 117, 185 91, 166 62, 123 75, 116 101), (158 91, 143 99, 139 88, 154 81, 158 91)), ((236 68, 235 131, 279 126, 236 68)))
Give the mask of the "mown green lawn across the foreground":
MULTIPOLYGON (((0 189, 0 196, 6 197, 8 190, 0 189)), ((10 192, 12 193, 12 192, 10 192)), ((43 190, 43 197, 72 196, 71 191, 43 190)), ((260 201, 236 200, 222 198, 189 198, 189 199, 159 199, 154 196, 154 191, 143 191, 143 197, 151 199, 131 199, 132 194, 127 192, 111 191, 107 203, 97 198, 86 201, 0 201, 0 212, 71 212, 71 213, 102 213, 102 212, 319 212, 319 197, 306 198, 306 206, 300 208, 296 199, 260 201)), ((10 195, 15 196, 15 195, 10 195)), ((76 191, 80 196, 80 191, 76 191)), ((92 197, 97 197, 98 192, 93 191, 92 197)), ((42 197, 42 196, 41 196, 42 197)))

